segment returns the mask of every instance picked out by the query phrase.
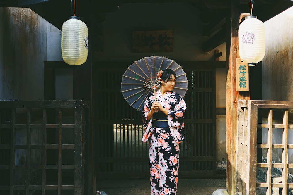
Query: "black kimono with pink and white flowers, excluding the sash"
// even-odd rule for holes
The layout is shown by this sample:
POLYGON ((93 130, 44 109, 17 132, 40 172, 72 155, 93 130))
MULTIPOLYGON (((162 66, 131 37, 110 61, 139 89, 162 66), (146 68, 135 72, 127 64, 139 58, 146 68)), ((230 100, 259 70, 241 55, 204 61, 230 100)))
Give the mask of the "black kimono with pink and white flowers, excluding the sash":
POLYGON ((183 97, 173 91, 167 92, 163 97, 160 91, 156 92, 159 103, 168 110, 169 128, 152 127, 153 117, 147 120, 151 111, 151 104, 155 101, 154 94, 147 97, 142 110, 145 133, 143 142, 149 142, 149 160, 151 173, 152 195, 176 195, 178 168, 179 168, 179 143, 183 141, 183 118, 186 109, 183 97))

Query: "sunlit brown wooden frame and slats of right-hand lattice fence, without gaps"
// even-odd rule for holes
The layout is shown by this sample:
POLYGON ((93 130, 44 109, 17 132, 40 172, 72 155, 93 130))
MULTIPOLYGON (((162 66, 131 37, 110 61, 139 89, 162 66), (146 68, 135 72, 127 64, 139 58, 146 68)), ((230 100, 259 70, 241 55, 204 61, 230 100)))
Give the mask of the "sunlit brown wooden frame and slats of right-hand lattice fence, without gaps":
POLYGON ((266 194, 272 194, 274 188, 287 194, 287 189, 293 187, 293 183, 287 183, 288 168, 293 164, 288 163, 287 150, 293 148, 288 144, 288 109, 293 108, 293 101, 238 101, 237 124, 237 148, 236 148, 236 192, 242 194, 256 194, 257 187, 265 187, 266 194), (246 114, 247 113, 247 114, 246 114), (273 115, 273 113, 276 113, 273 115), (282 115, 280 115, 282 113, 282 115), (259 116, 267 118, 267 123, 258 123, 259 116), (281 118, 281 120, 280 120, 281 118), (276 124, 281 122, 281 124, 276 124), (247 128, 246 128, 247 127, 247 128), (267 143, 259 143, 258 128, 268 130, 267 143), (282 129, 282 144, 275 144, 273 130, 282 129), (267 149, 266 162, 257 162, 258 149, 267 149), (281 163, 272 160, 272 149, 282 149, 281 163), (245 154, 245 151, 248 153, 245 154), (245 159, 245 157, 247 158, 245 159), (257 169, 265 168, 266 182, 257 182, 257 169), (272 168, 281 168, 281 181, 275 183, 272 179, 272 168))

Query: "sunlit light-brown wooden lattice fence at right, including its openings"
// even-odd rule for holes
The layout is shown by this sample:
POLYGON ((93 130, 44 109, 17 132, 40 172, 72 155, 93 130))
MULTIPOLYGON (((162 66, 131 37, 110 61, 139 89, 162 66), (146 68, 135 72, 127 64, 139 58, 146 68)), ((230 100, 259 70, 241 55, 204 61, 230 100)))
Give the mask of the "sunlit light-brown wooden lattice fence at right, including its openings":
POLYGON ((293 128, 288 124, 292 123, 288 111, 292 108, 293 101, 238 101, 238 194, 292 194, 293 159, 289 150, 293 144, 288 144, 288 132, 293 128), (263 140, 258 140, 258 132, 262 132, 263 140))

